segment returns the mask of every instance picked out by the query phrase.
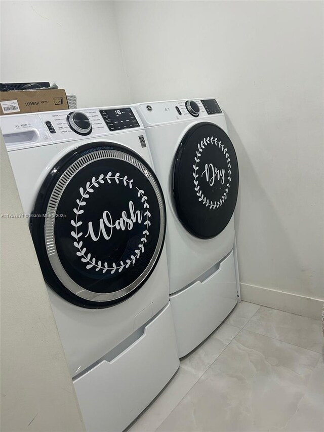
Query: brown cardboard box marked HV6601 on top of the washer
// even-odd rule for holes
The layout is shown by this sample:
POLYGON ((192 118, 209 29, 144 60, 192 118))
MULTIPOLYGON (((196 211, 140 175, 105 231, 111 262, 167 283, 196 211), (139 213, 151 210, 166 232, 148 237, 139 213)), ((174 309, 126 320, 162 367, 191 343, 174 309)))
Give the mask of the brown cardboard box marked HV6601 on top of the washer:
POLYGON ((54 111, 57 109, 69 109, 66 93, 63 89, 0 92, 1 115, 54 111))

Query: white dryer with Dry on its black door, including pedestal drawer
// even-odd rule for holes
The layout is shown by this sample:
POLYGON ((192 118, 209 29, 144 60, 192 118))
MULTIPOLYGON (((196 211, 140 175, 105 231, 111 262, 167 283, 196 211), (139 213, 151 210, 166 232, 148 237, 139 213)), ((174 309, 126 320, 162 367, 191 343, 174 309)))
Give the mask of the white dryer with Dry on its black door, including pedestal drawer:
POLYGON ((234 233, 237 159, 215 99, 136 107, 166 198, 170 301, 183 357, 239 300, 234 233))

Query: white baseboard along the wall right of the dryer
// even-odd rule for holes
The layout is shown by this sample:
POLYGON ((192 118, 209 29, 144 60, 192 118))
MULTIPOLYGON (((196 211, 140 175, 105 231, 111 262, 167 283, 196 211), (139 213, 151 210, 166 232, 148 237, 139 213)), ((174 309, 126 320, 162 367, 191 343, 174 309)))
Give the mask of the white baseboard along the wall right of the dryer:
POLYGON ((240 283, 241 299, 262 306, 321 319, 324 300, 240 283))

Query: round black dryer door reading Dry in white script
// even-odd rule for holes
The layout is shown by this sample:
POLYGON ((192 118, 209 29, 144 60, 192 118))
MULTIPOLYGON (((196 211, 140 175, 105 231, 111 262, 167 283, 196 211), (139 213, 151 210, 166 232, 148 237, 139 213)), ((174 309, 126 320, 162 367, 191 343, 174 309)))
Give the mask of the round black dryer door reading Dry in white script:
POLYGON ((181 141, 174 163, 173 194, 183 226, 211 239, 230 221, 237 200, 238 165, 228 135, 213 123, 199 123, 181 141))

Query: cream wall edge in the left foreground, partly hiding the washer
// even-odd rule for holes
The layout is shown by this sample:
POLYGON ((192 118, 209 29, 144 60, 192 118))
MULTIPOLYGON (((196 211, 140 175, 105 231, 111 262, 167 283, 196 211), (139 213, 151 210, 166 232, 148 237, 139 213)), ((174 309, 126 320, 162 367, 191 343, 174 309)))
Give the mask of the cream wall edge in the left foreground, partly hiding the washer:
MULTIPOLYGON (((1 214, 22 214, 3 136, 1 214)), ((1 217, 3 432, 85 432, 50 299, 24 218, 1 217)))

